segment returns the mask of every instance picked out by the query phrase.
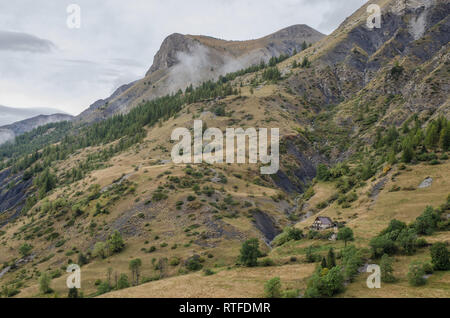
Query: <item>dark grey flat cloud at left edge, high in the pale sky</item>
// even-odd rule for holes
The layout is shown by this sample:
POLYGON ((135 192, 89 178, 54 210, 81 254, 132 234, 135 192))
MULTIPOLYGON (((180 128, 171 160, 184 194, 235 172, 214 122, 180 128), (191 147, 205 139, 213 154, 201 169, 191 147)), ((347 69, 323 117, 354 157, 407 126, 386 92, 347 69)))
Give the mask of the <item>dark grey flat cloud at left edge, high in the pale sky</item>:
POLYGON ((49 53, 55 48, 53 42, 32 34, 0 30, 0 50, 49 53))

